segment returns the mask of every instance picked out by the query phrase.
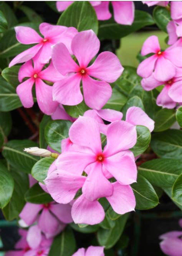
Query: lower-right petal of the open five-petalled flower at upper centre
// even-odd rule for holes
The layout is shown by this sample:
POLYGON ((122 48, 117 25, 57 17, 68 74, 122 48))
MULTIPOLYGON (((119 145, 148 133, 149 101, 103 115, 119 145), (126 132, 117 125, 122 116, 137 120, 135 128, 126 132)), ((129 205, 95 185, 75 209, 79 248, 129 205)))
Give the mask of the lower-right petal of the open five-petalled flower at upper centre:
POLYGON ((84 100, 90 108, 100 110, 111 98, 112 88, 108 83, 94 80, 88 75, 83 76, 82 83, 84 100))

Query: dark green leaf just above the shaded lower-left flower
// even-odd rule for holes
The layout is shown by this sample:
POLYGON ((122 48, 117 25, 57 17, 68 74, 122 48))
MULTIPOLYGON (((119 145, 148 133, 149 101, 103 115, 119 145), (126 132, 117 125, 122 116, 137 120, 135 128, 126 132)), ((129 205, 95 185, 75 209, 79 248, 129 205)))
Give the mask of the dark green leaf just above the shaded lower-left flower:
POLYGON ((33 204, 46 204, 53 201, 50 194, 46 193, 38 183, 29 188, 25 193, 25 201, 33 204))

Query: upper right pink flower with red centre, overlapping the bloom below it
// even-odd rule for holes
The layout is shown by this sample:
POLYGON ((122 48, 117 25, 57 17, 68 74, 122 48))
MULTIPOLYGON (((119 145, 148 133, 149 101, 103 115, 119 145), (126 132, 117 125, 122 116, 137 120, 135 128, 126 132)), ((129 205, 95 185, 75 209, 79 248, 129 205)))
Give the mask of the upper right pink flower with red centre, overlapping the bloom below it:
POLYGON ((137 68, 137 74, 143 78, 151 76, 154 71, 154 77, 157 80, 168 81, 175 76, 176 66, 182 67, 182 61, 179 58, 182 55, 182 48, 167 48, 162 51, 156 36, 147 38, 143 44, 141 55, 149 53, 154 55, 142 61, 137 68))

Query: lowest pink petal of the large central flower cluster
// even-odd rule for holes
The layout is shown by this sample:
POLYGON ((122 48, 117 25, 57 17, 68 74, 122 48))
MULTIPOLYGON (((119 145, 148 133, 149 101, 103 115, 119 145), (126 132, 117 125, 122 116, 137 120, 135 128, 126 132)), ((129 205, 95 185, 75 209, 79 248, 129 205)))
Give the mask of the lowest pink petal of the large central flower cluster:
POLYGON ((94 225, 103 221, 104 209, 98 201, 88 201, 82 194, 74 202, 71 215, 74 223, 94 225))

